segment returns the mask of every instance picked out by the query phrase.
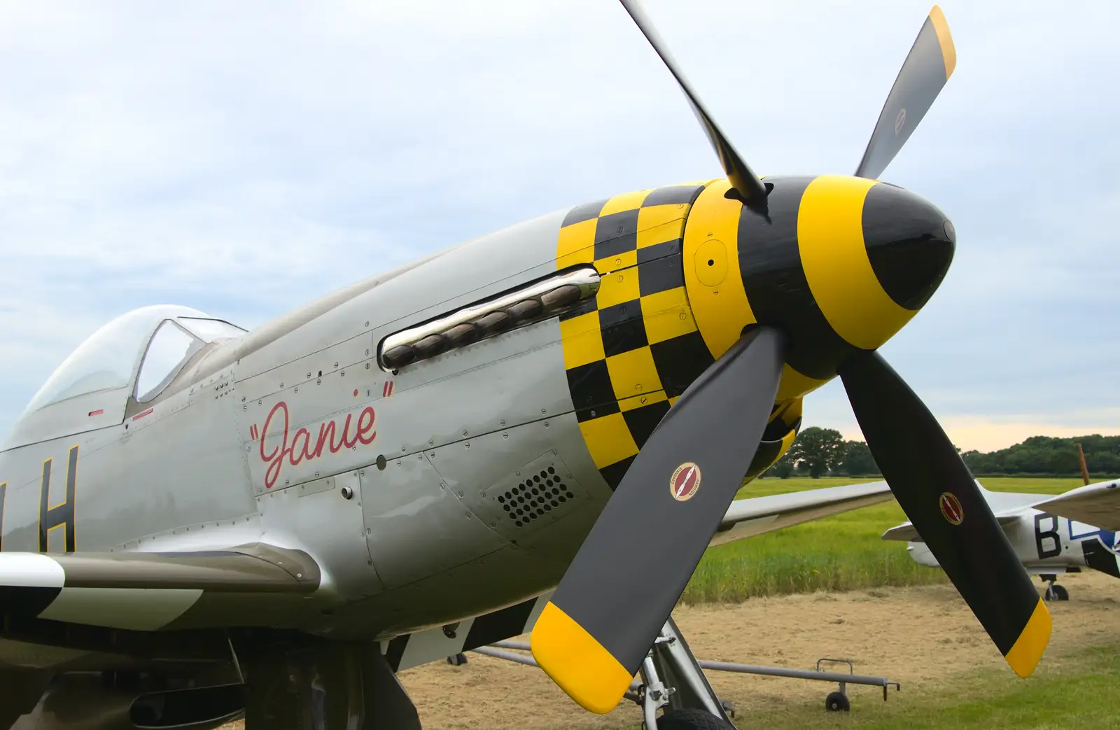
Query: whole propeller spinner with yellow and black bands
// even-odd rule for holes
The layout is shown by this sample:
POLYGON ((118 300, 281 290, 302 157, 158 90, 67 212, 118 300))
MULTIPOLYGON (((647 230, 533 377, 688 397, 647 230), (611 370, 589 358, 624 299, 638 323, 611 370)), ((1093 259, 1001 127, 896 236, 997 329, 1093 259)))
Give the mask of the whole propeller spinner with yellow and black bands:
POLYGON ((886 182, 765 181, 768 219, 727 198, 727 181, 700 195, 685 227, 685 283, 713 356, 755 322, 786 334, 778 400, 788 400, 902 329, 944 279, 955 234, 934 205, 886 182))

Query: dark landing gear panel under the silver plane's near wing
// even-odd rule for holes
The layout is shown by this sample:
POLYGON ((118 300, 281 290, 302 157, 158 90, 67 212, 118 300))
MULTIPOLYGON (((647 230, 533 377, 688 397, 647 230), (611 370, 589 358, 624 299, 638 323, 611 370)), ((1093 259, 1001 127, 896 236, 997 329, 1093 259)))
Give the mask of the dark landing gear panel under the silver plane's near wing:
POLYGON ((377 644, 315 642, 244 663, 245 730, 421 730, 377 644))

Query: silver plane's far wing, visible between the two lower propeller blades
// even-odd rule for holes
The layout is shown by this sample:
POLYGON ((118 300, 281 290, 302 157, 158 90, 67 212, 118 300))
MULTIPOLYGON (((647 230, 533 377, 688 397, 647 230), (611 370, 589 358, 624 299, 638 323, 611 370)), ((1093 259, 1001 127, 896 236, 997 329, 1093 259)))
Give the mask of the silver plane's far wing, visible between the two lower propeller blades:
POLYGON ((894 495, 886 481, 736 499, 727 508, 709 545, 721 545, 890 499, 894 495))

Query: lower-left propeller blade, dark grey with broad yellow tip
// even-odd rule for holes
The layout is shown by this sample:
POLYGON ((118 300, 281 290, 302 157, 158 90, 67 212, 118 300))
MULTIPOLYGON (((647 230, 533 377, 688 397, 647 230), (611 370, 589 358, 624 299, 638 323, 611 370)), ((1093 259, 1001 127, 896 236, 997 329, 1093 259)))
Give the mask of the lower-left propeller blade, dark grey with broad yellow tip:
POLYGON ((744 335, 681 395, 626 471, 532 633, 585 709, 618 704, 711 541, 774 408, 783 341, 744 335))

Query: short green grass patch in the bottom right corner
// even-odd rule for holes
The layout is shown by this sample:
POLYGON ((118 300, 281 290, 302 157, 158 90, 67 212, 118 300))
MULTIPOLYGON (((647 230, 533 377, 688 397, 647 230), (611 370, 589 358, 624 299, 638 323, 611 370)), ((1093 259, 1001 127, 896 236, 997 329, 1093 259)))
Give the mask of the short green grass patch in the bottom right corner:
POLYGON ((849 693, 851 712, 837 714, 824 712, 822 692, 820 702, 748 710, 738 724, 768 730, 1113 728, 1120 723, 1118 685, 1120 645, 1112 644, 1048 656, 1029 680, 1002 670, 976 671, 932 691, 892 690, 887 702, 877 690, 857 689, 849 693))

